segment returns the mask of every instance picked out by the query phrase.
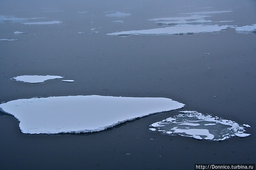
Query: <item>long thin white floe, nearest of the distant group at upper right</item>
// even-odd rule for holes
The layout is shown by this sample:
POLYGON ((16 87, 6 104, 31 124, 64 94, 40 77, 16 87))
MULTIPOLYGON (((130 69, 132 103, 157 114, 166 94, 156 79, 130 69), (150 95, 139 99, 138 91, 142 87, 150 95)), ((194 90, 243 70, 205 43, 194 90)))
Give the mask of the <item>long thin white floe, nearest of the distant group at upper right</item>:
POLYGON ((233 26, 183 24, 183 25, 176 25, 174 27, 166 27, 166 28, 113 32, 113 33, 108 33, 106 35, 182 35, 182 34, 195 34, 195 33, 206 33, 206 32, 220 32, 230 27, 233 27, 233 26))

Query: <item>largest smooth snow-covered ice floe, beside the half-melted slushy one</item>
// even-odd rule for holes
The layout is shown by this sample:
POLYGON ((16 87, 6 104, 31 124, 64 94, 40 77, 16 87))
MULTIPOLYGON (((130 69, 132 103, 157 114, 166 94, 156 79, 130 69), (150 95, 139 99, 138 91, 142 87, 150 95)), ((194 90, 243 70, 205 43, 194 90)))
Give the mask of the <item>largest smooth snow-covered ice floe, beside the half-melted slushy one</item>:
POLYGON ((57 134, 98 132, 183 106, 169 98, 90 95, 17 99, 0 104, 0 111, 13 115, 22 133, 57 134))

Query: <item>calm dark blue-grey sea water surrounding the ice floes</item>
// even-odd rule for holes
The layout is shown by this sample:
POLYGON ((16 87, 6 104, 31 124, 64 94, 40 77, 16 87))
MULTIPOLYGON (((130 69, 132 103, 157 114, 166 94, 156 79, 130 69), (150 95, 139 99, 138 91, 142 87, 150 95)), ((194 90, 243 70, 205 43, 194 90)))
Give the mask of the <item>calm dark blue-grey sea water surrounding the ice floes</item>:
POLYGON ((201 11, 233 11, 211 14, 207 20, 234 20, 213 24, 252 25, 256 24, 255 9, 253 0, 109 1, 105 4, 0 1, 0 15, 47 17, 28 22, 63 22, 32 26, 10 21, 0 23, 0 39, 18 39, 0 41, 0 102, 95 94, 167 97, 186 104, 183 109, 127 122, 103 132, 78 135, 22 134, 15 118, 2 115, 1 169, 193 169, 194 164, 204 163, 255 164, 254 33, 228 29, 183 36, 105 35, 165 27, 146 19, 201 11), (58 12, 49 12, 53 10, 58 12), (78 13, 84 11, 87 13, 78 13), (109 11, 131 16, 106 17, 109 11), (124 23, 113 23, 114 20, 124 23), (98 29, 91 31, 92 28, 98 29), (15 31, 27 33, 14 34, 15 31), (94 31, 99 33, 93 34, 94 31), (10 80, 20 75, 58 75, 75 82, 55 79, 30 84, 10 80), (196 110, 249 124, 251 128, 246 132, 252 135, 215 142, 148 131, 150 124, 181 110, 196 110))

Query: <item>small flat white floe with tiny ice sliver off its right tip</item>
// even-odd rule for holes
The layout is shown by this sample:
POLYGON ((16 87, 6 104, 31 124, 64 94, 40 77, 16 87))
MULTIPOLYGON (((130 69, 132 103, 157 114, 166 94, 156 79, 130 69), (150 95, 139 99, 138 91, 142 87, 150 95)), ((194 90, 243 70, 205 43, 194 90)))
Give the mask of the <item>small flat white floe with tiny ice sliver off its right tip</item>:
POLYGON ((64 78, 62 76, 38 76, 38 75, 24 75, 11 78, 11 80, 22 81, 24 83, 42 83, 46 80, 64 78))

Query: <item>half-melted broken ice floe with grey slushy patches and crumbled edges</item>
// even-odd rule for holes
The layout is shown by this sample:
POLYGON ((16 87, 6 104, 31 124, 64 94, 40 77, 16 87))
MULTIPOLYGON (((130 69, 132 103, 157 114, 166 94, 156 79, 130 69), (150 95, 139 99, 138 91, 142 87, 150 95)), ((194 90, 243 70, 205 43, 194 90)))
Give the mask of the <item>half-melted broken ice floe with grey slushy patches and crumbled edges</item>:
POLYGON ((223 141, 233 136, 247 137, 251 134, 244 133, 244 127, 238 123, 213 118, 211 115, 204 115, 196 111, 180 111, 183 114, 175 115, 160 122, 151 124, 151 131, 158 131, 163 134, 180 135, 195 139, 206 139, 223 141))

